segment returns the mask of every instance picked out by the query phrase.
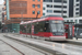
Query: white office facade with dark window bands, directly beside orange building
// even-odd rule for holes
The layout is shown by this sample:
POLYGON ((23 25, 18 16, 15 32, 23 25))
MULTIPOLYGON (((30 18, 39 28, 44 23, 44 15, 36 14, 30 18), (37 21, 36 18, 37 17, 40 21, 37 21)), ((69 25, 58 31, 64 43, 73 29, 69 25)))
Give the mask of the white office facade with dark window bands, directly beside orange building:
POLYGON ((43 15, 69 16, 69 0, 43 0, 43 15))

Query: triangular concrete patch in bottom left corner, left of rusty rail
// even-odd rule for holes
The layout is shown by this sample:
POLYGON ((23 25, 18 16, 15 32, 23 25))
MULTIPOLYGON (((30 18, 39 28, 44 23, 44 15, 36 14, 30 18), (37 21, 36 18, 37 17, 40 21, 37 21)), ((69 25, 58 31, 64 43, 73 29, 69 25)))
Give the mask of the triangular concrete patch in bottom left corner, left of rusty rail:
MULTIPOLYGON (((1 37, 1 36, 0 36, 1 37)), ((15 50, 0 41, 0 55, 21 55, 15 50)))

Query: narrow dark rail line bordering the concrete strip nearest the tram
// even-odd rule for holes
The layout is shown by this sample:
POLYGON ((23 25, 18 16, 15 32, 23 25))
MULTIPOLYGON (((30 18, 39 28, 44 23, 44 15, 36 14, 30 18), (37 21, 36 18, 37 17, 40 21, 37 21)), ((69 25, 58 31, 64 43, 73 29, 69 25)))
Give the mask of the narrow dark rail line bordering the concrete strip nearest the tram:
MULTIPOLYGON (((58 53, 59 53, 59 55, 67 55, 67 54, 63 54, 63 53, 61 53, 61 52, 57 52, 57 51, 52 51, 52 50, 49 50, 49 48, 46 48, 46 47, 43 47, 43 46, 38 46, 38 45, 36 45, 36 44, 31 44, 31 43, 27 43, 27 42, 24 42, 24 41, 21 41, 21 40, 16 40, 16 38, 13 38, 13 37, 9 37, 9 36, 7 36, 7 35, 4 35, 7 38, 11 38, 11 40, 14 40, 14 41, 17 41, 17 42, 22 42, 22 43, 24 43, 24 44, 27 44, 27 45, 30 45, 30 46, 33 46, 33 47, 36 47, 36 48, 38 48, 38 50, 42 50, 42 51, 44 51, 44 52, 47 52, 47 53, 50 53, 50 54, 52 54, 52 55, 58 55, 58 53)), ((45 54, 45 55, 48 55, 48 54, 45 54)))

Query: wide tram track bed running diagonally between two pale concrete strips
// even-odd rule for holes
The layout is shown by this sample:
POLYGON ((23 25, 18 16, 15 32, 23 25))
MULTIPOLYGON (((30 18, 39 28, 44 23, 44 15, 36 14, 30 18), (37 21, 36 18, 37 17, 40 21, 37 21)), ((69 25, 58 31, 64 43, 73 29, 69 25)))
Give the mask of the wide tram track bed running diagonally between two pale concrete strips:
MULTIPOLYGON (((5 35, 4 35, 4 36, 5 36, 5 35)), ((5 36, 5 37, 7 37, 7 36, 5 36)), ((60 52, 57 52, 57 51, 51 52, 51 51, 48 51, 48 50, 46 50, 46 48, 43 48, 43 47, 33 45, 33 44, 30 44, 30 43, 25 43, 25 42, 22 42, 22 41, 20 41, 20 40, 15 40, 15 38, 12 38, 12 37, 9 37, 9 36, 8 36, 7 38, 12 40, 13 42, 16 42, 16 43, 19 43, 19 44, 21 44, 21 45, 24 45, 24 46, 26 46, 26 47, 33 48, 33 50, 35 50, 35 51, 37 51, 37 52, 40 52, 40 53, 43 53, 43 54, 45 54, 45 55, 62 55, 62 54, 63 54, 63 53, 60 53, 60 52), (50 53, 50 52, 51 52, 51 53, 50 53)), ((66 54, 63 54, 63 55, 66 55, 66 54)))

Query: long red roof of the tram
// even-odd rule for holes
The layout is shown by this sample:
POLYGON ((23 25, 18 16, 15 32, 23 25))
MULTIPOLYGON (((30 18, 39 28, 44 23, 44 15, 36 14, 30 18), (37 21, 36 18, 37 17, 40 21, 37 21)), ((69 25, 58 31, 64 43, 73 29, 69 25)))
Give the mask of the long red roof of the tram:
POLYGON ((49 20, 63 20, 63 19, 59 15, 46 15, 40 19, 27 21, 27 22, 22 22, 20 24, 34 23, 34 22, 39 22, 39 21, 49 21, 49 20))

